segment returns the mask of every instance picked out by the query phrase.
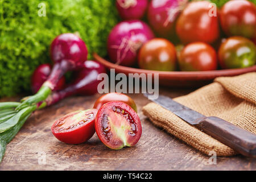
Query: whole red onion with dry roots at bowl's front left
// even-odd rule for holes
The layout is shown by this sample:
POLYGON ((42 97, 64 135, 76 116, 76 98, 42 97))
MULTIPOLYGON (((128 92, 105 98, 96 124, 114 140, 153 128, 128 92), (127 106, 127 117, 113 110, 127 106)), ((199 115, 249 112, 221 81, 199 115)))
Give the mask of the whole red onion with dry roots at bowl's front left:
POLYGON ((137 61, 139 48, 153 38, 155 38, 154 33, 141 20, 118 23, 108 38, 110 61, 127 67, 133 66, 137 61))

